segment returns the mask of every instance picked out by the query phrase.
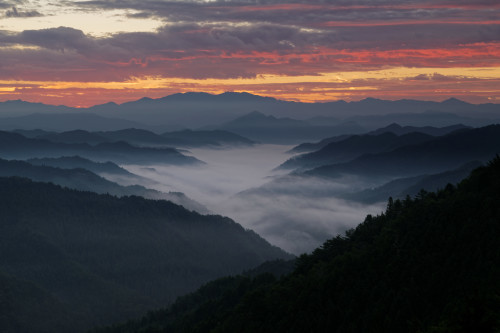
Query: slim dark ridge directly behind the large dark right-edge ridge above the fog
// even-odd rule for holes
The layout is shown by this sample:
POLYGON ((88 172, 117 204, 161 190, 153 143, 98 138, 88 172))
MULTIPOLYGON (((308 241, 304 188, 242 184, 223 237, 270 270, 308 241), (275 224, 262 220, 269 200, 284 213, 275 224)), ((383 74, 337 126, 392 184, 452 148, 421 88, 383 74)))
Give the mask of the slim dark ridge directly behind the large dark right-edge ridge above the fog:
POLYGON ((312 153, 295 156, 280 165, 282 169, 311 169, 327 164, 346 162, 364 154, 394 150, 398 147, 420 144, 433 139, 423 133, 409 133, 398 136, 391 132, 379 135, 352 135, 328 143, 312 153))

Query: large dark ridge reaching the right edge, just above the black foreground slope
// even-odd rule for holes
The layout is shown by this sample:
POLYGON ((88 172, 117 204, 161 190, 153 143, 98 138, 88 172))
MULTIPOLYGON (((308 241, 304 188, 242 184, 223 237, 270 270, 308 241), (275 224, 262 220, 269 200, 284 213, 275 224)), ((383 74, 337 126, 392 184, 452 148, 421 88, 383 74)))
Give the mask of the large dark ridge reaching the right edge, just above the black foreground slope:
POLYGON ((458 168, 470 161, 486 162, 500 151, 500 125, 459 131, 435 139, 366 154, 349 162, 325 165, 304 172, 308 176, 410 177, 458 168))

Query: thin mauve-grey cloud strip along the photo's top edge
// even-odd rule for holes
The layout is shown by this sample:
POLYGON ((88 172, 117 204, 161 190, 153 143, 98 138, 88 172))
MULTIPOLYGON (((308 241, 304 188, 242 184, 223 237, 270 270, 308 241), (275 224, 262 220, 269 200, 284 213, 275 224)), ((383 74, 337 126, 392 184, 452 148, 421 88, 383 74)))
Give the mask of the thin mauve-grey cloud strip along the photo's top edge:
MULTIPOLYGON (((310 25, 328 21, 432 19, 462 16, 481 20, 491 8, 445 1, 88 1, 94 9, 133 9, 169 22, 245 21, 310 25), (466 8, 463 6, 466 5, 466 8), (460 7, 462 6, 462 7, 460 7)), ((487 3, 485 1, 485 3, 487 3)), ((498 5, 498 4, 497 4, 498 5)))

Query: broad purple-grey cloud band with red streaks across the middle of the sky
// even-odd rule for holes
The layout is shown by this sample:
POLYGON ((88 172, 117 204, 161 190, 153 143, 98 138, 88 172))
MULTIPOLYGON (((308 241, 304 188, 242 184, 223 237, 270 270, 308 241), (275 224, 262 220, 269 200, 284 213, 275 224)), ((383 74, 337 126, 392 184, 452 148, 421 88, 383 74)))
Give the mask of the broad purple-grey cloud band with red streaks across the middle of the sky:
POLYGON ((484 65, 481 61, 498 59, 499 53, 500 42, 497 46, 494 43, 500 25, 483 28, 468 36, 458 28, 429 26, 407 39, 413 27, 317 32, 275 24, 182 23, 166 25, 154 33, 120 33, 104 38, 59 27, 0 34, 0 41, 7 45, 38 47, 2 48, 0 56, 7 69, 21 58, 32 68, 36 66, 36 71, 17 72, 18 77, 45 75, 48 80, 54 76, 55 66, 59 80, 70 81, 75 77, 81 81, 112 81, 146 76, 204 79, 318 75, 391 66, 450 67, 457 62, 477 66, 484 65), (453 39, 457 45, 441 47, 442 40, 453 39), (68 75, 61 73, 63 70, 68 75))

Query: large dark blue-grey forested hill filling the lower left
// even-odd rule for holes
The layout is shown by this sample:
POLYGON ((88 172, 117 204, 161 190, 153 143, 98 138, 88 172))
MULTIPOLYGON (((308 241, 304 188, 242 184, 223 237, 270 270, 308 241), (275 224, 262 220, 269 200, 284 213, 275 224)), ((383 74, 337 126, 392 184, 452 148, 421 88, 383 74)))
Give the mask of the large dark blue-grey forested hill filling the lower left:
POLYGON ((229 218, 0 178, 1 332, 81 332, 276 258, 229 218))

